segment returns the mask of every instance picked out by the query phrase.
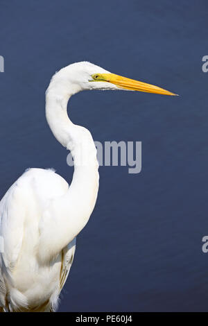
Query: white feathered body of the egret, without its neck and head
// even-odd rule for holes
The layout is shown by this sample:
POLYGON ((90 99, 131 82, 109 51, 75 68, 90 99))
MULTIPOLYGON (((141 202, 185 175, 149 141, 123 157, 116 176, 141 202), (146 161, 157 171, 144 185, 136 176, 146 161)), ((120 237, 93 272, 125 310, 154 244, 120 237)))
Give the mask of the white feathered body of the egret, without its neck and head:
POLYGON ((55 257, 40 261, 39 252, 48 249, 39 245, 40 223, 47 218, 51 200, 68 188, 53 170, 29 169, 2 198, 0 307, 9 311, 55 309, 73 261, 75 239, 55 257))

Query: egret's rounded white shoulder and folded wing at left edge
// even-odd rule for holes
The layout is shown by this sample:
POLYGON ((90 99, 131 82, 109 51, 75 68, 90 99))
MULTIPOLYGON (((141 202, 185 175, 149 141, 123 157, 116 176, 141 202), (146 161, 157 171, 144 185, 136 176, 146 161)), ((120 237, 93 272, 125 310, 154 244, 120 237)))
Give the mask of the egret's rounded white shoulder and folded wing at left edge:
POLYGON ((27 234, 29 237, 31 228, 38 229, 50 200, 64 195, 68 188, 68 183, 53 170, 28 169, 3 196, 0 202, 3 250, 0 255, 10 270, 15 266, 24 237, 27 234))

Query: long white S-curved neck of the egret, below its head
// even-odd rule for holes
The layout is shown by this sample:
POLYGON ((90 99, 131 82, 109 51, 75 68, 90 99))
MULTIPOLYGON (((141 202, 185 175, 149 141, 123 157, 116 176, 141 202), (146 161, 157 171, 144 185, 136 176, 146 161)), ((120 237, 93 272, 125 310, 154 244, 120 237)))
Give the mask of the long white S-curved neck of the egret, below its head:
MULTIPOLYGON (((51 205, 51 210, 56 212, 54 221, 59 221, 56 221, 54 237, 59 241, 60 249, 84 228, 98 194, 96 147, 89 130, 76 126, 69 119, 67 103, 70 96, 70 92, 53 85, 46 92, 46 119, 53 135, 71 151, 74 161, 73 180, 67 193, 53 200, 51 205)), ((58 246, 54 248, 57 250, 58 246)))

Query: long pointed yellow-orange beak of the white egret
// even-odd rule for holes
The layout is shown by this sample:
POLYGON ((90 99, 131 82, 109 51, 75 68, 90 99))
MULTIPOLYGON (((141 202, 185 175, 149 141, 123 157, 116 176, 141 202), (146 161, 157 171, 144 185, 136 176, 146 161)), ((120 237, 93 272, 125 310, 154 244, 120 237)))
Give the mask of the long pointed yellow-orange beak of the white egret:
POLYGON ((157 87, 155 85, 142 83, 140 81, 125 78, 116 74, 101 74, 101 78, 103 81, 105 80, 108 83, 112 83, 120 89, 130 89, 132 91, 177 96, 177 94, 169 92, 166 89, 157 87))

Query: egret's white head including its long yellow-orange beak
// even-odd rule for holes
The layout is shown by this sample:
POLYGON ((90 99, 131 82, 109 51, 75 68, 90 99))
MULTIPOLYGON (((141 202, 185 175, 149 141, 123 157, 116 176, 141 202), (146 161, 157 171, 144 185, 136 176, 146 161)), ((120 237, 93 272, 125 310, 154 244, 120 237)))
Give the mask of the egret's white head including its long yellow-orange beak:
POLYGON ((166 89, 142 83, 110 73, 90 62, 76 62, 64 67, 54 76, 56 81, 64 80, 65 87, 70 87, 72 94, 87 89, 123 89, 163 95, 177 95, 166 89))

